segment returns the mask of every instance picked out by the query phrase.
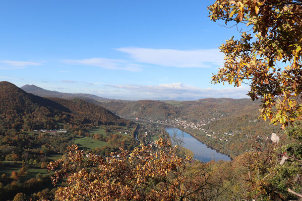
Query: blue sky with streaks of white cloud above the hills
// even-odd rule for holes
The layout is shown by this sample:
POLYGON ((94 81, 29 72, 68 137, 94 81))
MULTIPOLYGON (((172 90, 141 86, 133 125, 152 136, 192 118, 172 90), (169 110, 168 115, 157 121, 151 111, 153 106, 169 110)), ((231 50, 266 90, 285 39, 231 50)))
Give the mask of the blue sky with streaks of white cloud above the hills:
POLYGON ((0 80, 116 99, 244 98, 211 84, 237 30, 214 1, 1 1, 0 80))

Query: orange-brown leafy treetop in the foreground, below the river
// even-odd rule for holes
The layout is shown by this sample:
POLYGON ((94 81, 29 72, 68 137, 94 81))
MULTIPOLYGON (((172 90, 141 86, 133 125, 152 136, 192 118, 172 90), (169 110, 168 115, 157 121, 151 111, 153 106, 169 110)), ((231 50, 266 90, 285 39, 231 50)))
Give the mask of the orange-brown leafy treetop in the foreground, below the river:
MULTIPOLYGON (((135 148, 131 153, 121 150, 111 153, 106 160, 97 155, 84 157, 73 145, 66 160, 49 163, 56 170, 52 181, 66 179, 66 184, 55 191, 56 200, 185 200, 197 192, 209 189, 206 164, 190 168, 190 158, 176 155, 177 148, 162 139, 157 148, 135 148)), ((194 199, 193 199, 194 200, 194 199)))

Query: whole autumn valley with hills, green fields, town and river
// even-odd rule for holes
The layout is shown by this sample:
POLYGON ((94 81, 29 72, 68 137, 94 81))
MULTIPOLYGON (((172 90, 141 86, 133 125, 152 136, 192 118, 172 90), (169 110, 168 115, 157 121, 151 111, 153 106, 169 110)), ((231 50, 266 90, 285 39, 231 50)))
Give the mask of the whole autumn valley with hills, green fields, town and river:
POLYGON ((135 102, 72 95, 64 99, 52 93, 37 96, 9 82, 0 82, 0 92, 4 186, 0 189, 6 199, 12 199, 16 191, 36 198, 51 195, 49 177, 53 172, 48 173, 46 166, 66 157, 72 145, 86 156, 93 153, 106 158, 120 148, 132 151, 140 143, 155 147, 160 138, 175 143, 169 129, 175 127, 179 129, 176 139, 185 142, 178 154, 193 157, 195 153, 196 159, 209 162, 265 150, 271 144, 270 134, 279 133, 278 128, 258 119, 260 102, 249 99, 135 102), (181 131, 185 132, 183 139, 181 131))

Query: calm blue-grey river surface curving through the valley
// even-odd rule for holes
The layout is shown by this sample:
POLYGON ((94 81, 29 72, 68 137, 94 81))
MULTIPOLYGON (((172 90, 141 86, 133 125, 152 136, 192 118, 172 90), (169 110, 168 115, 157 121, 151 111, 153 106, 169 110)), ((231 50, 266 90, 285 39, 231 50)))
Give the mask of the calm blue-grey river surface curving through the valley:
POLYGON ((184 131, 170 127, 167 127, 165 129, 169 133, 171 139, 173 138, 174 134, 176 134, 177 139, 182 139, 184 142, 182 143, 182 146, 194 152, 194 158, 197 160, 200 160, 202 162, 209 162, 210 160, 230 160, 227 155, 219 153, 218 151, 207 147, 207 145, 198 141, 184 131))

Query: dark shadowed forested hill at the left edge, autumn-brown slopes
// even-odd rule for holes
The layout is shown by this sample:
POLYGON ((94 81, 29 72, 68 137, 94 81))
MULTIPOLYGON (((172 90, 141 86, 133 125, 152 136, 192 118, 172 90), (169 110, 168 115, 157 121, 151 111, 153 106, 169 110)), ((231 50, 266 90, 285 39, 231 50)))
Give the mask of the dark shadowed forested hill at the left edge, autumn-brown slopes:
POLYGON ((0 132, 56 129, 62 125, 92 128, 100 124, 128 124, 108 110, 75 98, 44 98, 0 82, 0 132))

